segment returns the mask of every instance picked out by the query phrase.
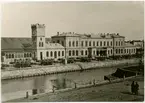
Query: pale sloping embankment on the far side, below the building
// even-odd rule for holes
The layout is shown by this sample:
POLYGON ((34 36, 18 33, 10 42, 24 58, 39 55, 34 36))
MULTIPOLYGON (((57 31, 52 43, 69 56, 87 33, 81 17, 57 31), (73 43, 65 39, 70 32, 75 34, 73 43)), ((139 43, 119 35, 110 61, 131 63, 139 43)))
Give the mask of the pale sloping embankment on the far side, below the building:
POLYGON ((137 65, 139 63, 139 60, 140 59, 134 58, 134 59, 122 59, 110 61, 94 61, 88 63, 78 62, 75 64, 67 64, 67 65, 40 66, 40 67, 31 67, 29 69, 1 71, 1 79, 7 80, 64 72, 82 71, 87 69, 97 69, 102 67, 137 65))

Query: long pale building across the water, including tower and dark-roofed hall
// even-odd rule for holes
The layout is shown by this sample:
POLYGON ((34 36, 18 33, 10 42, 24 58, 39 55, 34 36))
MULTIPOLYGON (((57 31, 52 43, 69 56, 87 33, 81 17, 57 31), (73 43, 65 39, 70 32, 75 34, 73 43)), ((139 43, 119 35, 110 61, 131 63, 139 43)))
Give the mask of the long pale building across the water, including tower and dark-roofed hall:
POLYGON ((44 24, 31 25, 31 38, 2 38, 2 62, 17 60, 112 57, 136 54, 137 45, 119 33, 78 34, 63 32, 49 38, 44 24))

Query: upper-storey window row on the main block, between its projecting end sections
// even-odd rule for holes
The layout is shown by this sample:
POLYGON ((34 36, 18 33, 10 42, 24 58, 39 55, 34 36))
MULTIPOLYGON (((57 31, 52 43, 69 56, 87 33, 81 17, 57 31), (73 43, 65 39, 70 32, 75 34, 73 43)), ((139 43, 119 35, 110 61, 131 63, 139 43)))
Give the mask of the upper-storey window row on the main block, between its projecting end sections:
POLYGON ((112 41, 81 41, 81 46, 112 46, 112 41))

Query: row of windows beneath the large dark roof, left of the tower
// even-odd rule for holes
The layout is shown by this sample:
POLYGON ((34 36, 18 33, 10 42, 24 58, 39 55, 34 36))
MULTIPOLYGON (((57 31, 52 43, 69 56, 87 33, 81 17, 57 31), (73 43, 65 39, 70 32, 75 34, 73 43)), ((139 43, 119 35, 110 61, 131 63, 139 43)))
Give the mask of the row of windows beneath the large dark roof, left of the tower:
POLYGON ((15 54, 15 53, 10 53, 6 54, 6 58, 25 58, 25 57, 31 57, 31 53, 21 53, 21 54, 15 54))

